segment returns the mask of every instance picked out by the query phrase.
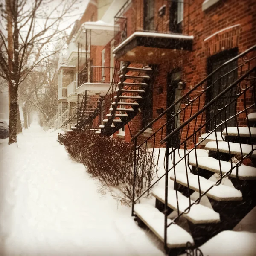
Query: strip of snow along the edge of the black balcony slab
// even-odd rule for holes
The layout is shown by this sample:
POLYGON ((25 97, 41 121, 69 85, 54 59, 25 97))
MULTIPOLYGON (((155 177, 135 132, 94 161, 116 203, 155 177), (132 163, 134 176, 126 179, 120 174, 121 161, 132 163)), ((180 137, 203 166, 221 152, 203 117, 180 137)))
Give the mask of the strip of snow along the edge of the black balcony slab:
POLYGON ((116 53, 119 49, 121 49, 125 44, 130 42, 133 38, 137 36, 144 36, 144 37, 154 37, 154 38, 177 38, 177 39, 186 39, 186 40, 193 40, 193 35, 180 35, 180 34, 166 34, 166 33, 154 33, 154 32, 134 32, 121 44, 119 44, 115 49, 113 49, 113 53, 116 53))

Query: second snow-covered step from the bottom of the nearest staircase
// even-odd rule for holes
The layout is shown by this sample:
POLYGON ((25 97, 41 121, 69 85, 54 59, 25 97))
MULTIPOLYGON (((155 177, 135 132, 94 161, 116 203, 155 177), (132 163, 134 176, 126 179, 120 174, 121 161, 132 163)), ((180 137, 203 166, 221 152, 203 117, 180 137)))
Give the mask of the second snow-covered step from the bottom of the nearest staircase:
MULTIPOLYGON (((182 195, 179 191, 178 194, 178 203, 180 212, 185 212, 186 208, 189 207, 189 198, 182 195)), ((164 188, 155 188, 152 192, 152 195, 157 198, 162 203, 165 202, 165 189, 164 188)), ((191 200, 191 204, 194 201, 191 200)), ((176 191, 173 189, 168 189, 168 206, 177 211, 177 200, 176 200, 176 191)), ((186 210, 187 212, 188 210, 186 210)), ((184 213, 183 216, 187 218, 192 223, 201 224, 201 223, 216 223, 220 221, 220 215, 218 212, 215 212, 213 209, 206 207, 201 204, 193 204, 188 213, 184 213)))

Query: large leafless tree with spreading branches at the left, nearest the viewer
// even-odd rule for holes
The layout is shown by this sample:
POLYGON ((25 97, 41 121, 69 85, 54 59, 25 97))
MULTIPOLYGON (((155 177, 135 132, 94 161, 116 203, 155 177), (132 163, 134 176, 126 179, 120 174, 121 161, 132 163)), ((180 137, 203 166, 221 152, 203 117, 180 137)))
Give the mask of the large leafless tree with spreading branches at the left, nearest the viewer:
POLYGON ((61 23, 77 0, 0 1, 0 76, 9 82, 11 144, 17 141, 18 88, 38 64, 60 50, 52 49, 52 42, 65 36, 61 23))

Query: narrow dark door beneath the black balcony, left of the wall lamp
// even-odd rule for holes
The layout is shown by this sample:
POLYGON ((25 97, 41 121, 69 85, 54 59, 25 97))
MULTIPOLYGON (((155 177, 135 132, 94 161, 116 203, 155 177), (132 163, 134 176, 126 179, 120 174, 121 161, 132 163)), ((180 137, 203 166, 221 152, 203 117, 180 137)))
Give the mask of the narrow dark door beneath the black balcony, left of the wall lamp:
MULTIPOLYGON (((181 90, 178 89, 178 83, 180 82, 181 71, 171 72, 167 75, 167 108, 172 106, 172 104, 180 98, 181 90)), ((180 126, 180 115, 174 115, 178 113, 180 105, 173 106, 170 111, 167 112, 167 121, 172 119, 172 121, 167 123, 167 134, 170 134, 177 127, 180 126)), ((175 134, 169 141, 169 147, 175 148, 180 144, 180 132, 175 134)))

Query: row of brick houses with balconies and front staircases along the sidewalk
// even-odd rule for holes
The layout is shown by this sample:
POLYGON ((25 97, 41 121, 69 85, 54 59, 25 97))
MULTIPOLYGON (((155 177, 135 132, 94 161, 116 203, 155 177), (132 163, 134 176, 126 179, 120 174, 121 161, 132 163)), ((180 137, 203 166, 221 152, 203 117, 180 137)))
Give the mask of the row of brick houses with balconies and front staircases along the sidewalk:
POLYGON ((163 241, 169 255, 232 230, 256 205, 255 183, 248 183, 247 193, 241 189, 244 183, 239 187, 232 180, 232 189, 241 190, 241 195, 232 189, 226 193, 221 185, 228 175, 240 181, 256 178, 255 13, 253 0, 90 0, 67 40, 67 58, 58 70, 55 128, 134 143, 134 186, 138 149, 150 148, 157 154, 159 149, 160 154, 160 148, 166 148, 166 173, 160 177, 165 177, 166 186, 153 193, 163 232, 154 217, 144 216, 151 206, 137 204, 135 192, 132 215, 163 241), (206 149, 209 159, 198 157, 196 149, 206 149), (175 174, 180 161, 184 176, 175 174), (224 172, 221 161, 223 166, 231 164, 229 171, 224 172), (214 164, 219 167, 214 169, 214 164), (239 165, 249 168, 250 178, 233 173, 239 165), (168 190, 173 169, 172 191, 180 194, 168 190), (209 172, 220 174, 216 183, 210 183, 209 172), (210 193, 216 186, 221 192, 210 193), (196 202, 191 201, 192 190, 199 193, 196 202), (175 201, 168 200, 172 193, 175 201), (179 207, 178 195, 187 198, 183 202, 189 200, 188 207, 179 207), (204 195, 212 212, 198 204, 204 195), (248 207, 233 203, 236 200, 248 207), (195 218, 192 205, 208 217, 200 219, 198 213, 195 218), (227 221, 233 207, 239 217, 227 221), (177 211, 175 220, 185 215, 191 222, 189 231, 169 223, 171 211, 177 211), (176 232, 180 239, 173 239, 176 232))

